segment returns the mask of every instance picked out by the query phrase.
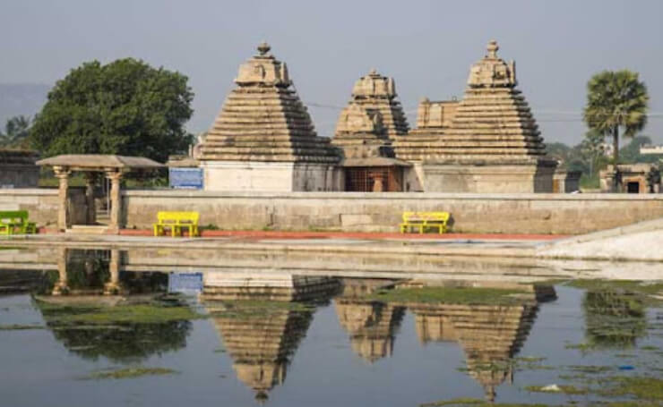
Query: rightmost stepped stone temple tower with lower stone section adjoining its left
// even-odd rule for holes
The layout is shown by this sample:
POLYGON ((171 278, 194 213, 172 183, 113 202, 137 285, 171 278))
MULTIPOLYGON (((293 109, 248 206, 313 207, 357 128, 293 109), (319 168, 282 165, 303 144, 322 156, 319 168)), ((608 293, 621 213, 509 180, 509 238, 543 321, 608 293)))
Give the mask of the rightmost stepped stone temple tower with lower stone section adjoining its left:
POLYGON ((472 65, 460 102, 419 106, 424 127, 394 143, 396 157, 417 162, 424 191, 550 192, 556 162, 546 156, 530 106, 516 89, 515 63, 495 40, 472 65))

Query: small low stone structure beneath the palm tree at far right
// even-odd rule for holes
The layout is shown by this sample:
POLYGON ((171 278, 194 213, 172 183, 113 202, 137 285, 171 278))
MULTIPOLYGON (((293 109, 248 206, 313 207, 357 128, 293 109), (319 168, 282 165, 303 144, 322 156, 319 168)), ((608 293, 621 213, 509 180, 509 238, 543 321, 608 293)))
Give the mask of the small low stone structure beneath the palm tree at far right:
POLYGON ((598 173, 601 191, 615 190, 615 176, 621 179, 620 190, 627 193, 660 193, 661 176, 659 165, 649 163, 607 165, 598 173))

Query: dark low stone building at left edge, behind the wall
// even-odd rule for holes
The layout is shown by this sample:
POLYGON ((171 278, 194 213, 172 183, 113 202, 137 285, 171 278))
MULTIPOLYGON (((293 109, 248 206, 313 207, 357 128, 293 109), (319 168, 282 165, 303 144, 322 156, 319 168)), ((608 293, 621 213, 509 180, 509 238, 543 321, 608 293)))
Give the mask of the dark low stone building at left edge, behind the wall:
POLYGON ((35 151, 0 149, 0 188, 36 188, 39 165, 35 151))

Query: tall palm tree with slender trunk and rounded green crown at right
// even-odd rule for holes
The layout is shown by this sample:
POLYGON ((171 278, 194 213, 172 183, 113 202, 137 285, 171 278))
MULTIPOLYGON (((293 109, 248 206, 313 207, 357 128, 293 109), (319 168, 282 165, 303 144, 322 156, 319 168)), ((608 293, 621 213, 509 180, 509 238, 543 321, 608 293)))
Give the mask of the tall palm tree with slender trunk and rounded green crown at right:
MULTIPOLYGON (((649 102, 647 87, 639 81, 638 73, 628 70, 604 71, 592 76, 587 83, 587 106, 584 120, 590 130, 611 136, 614 145, 613 164, 617 173, 619 162, 619 132, 633 137, 647 124, 649 102)), ((615 188, 619 188, 615 176, 615 188)))

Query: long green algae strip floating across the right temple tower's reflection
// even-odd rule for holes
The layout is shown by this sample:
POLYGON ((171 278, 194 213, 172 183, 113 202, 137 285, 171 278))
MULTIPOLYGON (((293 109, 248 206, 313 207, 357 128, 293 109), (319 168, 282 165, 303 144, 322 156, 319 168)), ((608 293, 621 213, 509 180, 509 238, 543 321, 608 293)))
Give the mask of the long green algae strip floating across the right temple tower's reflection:
POLYGON ((379 290, 366 298, 383 302, 418 302, 418 303, 449 303, 468 305, 515 305, 521 304, 519 295, 527 292, 498 288, 478 287, 423 287, 396 288, 379 290))

